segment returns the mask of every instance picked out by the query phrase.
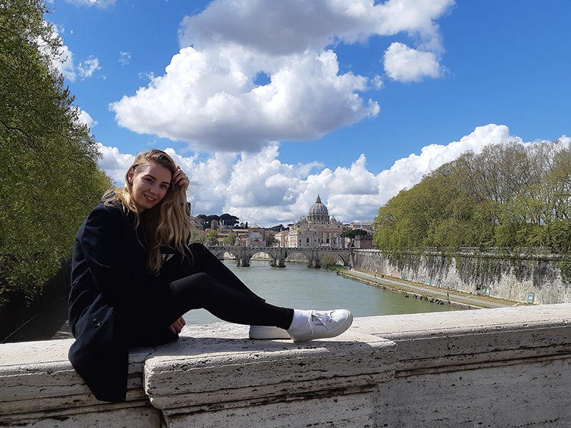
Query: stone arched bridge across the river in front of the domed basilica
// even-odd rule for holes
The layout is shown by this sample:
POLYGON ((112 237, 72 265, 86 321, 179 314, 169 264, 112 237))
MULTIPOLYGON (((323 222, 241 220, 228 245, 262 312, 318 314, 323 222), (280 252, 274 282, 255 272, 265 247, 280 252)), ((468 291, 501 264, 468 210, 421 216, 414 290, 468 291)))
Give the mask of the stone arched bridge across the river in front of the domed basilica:
POLYGON ((308 259, 308 267, 321 267, 321 259, 325 254, 337 255, 344 266, 353 266, 352 248, 284 248, 284 247, 246 247, 241 245, 206 245, 213 255, 223 258, 224 253, 236 258, 236 266, 246 267, 254 255, 264 253, 271 257, 270 265, 285 267, 285 259, 292 255, 303 255, 308 259))

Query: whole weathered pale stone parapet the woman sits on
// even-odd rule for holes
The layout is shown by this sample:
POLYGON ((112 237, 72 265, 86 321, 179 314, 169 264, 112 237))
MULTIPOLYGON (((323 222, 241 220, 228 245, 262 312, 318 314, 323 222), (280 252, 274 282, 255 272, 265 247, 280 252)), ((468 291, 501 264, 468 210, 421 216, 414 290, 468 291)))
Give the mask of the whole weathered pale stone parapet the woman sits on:
POLYGON ((97 402, 71 340, 0 345, 2 427, 570 427, 571 304, 356 318, 335 339, 185 327, 97 402))

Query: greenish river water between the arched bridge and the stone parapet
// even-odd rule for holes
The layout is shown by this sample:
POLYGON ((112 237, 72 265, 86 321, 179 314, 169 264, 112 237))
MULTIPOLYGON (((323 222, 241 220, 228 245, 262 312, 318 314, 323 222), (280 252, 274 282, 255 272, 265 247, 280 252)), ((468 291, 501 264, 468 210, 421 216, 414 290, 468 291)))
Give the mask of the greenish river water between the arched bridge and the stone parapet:
MULTIPOLYGON (((250 267, 236 267, 234 260, 224 263, 253 292, 272 305, 316 310, 344 308, 355 317, 457 310, 381 290, 305 264, 271 267, 267 261, 252 260, 250 267)), ((191 310, 184 319, 188 324, 220 321, 206 310, 191 310)))

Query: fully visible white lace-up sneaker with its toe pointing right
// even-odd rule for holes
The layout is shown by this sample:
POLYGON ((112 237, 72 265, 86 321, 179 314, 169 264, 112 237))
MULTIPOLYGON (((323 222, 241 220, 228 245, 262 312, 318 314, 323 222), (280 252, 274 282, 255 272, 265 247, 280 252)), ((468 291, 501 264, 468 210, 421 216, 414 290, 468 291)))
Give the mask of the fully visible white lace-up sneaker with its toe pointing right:
POLYGON ((293 342, 335 337, 345 332, 353 322, 353 315, 346 309, 312 310, 308 313, 308 322, 303 327, 288 330, 293 342))

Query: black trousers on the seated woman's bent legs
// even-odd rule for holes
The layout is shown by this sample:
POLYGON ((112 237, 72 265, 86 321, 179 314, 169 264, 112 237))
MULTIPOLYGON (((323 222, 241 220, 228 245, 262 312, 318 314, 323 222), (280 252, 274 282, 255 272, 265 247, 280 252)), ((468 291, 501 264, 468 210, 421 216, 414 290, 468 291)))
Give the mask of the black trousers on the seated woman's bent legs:
POLYGON ((168 284, 171 290, 165 302, 168 325, 200 308, 236 324, 287 330, 293 320, 293 309, 266 303, 201 244, 191 245, 191 255, 176 253, 163 263, 157 280, 159 287, 168 284))

